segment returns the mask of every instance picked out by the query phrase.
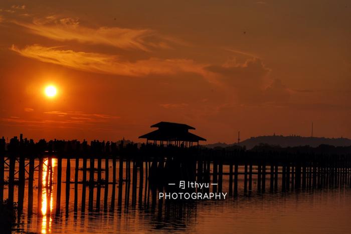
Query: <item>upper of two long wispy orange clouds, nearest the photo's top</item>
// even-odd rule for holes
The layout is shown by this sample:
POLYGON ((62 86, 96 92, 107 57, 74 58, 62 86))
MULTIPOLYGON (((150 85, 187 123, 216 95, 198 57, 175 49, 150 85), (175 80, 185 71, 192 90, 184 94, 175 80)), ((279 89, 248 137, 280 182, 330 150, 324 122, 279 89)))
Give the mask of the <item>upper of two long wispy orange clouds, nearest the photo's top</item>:
POLYGON ((77 41, 85 44, 99 44, 142 51, 150 51, 152 48, 170 48, 170 44, 178 42, 175 39, 159 35, 150 29, 89 28, 82 26, 78 18, 55 15, 34 19, 31 23, 18 20, 10 22, 26 28, 32 34, 61 42, 77 41))

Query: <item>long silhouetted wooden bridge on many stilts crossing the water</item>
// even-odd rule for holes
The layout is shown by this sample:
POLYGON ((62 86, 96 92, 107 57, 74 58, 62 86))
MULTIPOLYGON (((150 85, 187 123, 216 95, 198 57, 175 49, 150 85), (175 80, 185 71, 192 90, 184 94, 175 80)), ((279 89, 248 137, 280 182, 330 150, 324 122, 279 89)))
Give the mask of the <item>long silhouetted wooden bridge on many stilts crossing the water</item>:
MULTIPOLYGON (((0 199, 4 199, 4 186, 8 185, 8 199, 14 201, 15 186, 18 186, 18 210, 23 209, 25 183, 28 179, 28 212, 51 213, 50 205, 43 212, 42 192, 52 192, 53 180, 56 180, 56 213, 61 209, 62 180, 65 181, 66 211, 70 200, 71 184, 74 184, 74 210, 78 209, 78 184, 82 184, 81 210, 85 211, 88 202, 89 211, 100 207, 101 188, 104 192, 104 208, 107 208, 108 184, 112 186, 111 209, 117 199, 118 207, 122 202, 122 188, 125 184, 125 202, 129 202, 130 185, 131 203, 144 199, 156 199, 156 190, 171 189, 168 183, 185 181, 211 182, 208 191, 222 192, 224 187, 229 195, 252 192, 285 192, 289 190, 313 190, 325 187, 351 186, 351 154, 348 148, 324 146, 320 149, 293 149, 277 151, 249 151, 243 148, 234 150, 212 150, 198 147, 158 146, 153 144, 117 145, 116 143, 92 142, 88 145, 78 141, 30 142, 26 139, 13 140, 10 144, 0 145, 0 199), (15 143, 14 143, 15 142, 15 143), (57 160, 57 177, 53 177, 53 160, 57 160), (66 176, 62 178, 62 164, 66 162, 66 176), (73 165, 71 165, 73 164, 73 165), (88 167, 89 164, 89 167, 88 167), (112 166, 110 167, 109 165, 112 166), (97 166, 95 166, 97 165, 97 166), (74 167, 74 180, 71 181, 71 167, 74 167), (225 168, 225 170, 224 170, 225 168), (35 173, 38 180, 35 182, 35 173), (102 172, 105 178, 102 178, 102 172), (97 177, 95 178, 95 173, 97 177), (109 174, 112 180, 109 181, 109 174), (81 176, 79 176, 79 174, 81 176), (5 180, 8 175, 8 180, 5 180), (18 175, 18 179, 16 176, 18 175), (81 178, 81 180, 79 180, 81 178), (243 190, 239 191, 239 181, 243 181, 243 190), (224 186, 224 183, 226 186, 224 186), (118 195, 115 188, 118 184, 118 195), (38 207, 33 207, 33 190, 38 189, 38 207), (88 200, 86 201, 86 188, 88 200), (139 197, 137 199, 137 196, 139 197), (128 199, 127 199, 128 198, 128 199)), ((195 189, 199 191, 199 189, 195 189)), ((206 191, 202 190, 203 192, 206 191)))

